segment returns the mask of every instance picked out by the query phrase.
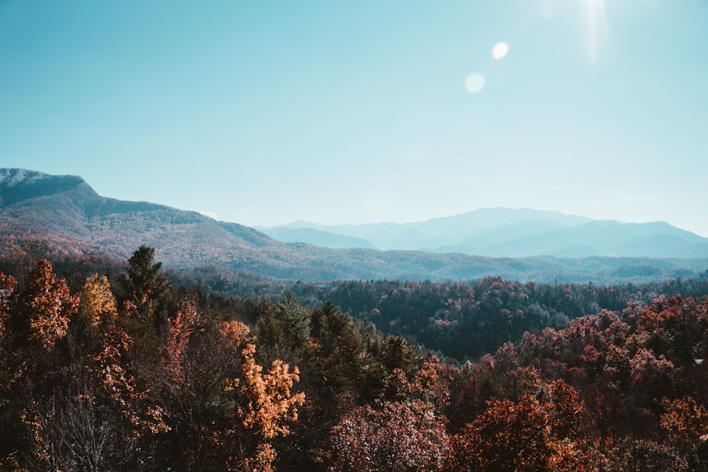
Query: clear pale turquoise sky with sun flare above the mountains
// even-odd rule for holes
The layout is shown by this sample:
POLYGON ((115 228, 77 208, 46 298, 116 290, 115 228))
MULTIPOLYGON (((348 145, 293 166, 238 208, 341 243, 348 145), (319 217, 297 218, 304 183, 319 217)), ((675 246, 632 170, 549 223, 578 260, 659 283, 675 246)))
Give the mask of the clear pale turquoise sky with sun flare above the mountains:
POLYGON ((708 236, 708 1, 0 0, 0 166, 272 226, 708 236))

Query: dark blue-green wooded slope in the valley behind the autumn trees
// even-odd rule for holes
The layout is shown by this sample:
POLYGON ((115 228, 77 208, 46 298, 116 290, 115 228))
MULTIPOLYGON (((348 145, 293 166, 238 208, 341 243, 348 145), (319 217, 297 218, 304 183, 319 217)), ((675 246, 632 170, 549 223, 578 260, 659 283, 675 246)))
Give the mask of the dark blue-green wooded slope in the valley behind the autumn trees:
MULTIPOLYGON (((705 274, 708 276, 708 274, 705 274)), ((566 326, 629 301, 648 304, 658 294, 701 297, 708 277, 661 283, 538 284, 485 277, 467 282, 348 280, 290 287, 312 306, 326 300, 389 335, 425 346, 439 357, 479 359, 526 332, 566 326)))

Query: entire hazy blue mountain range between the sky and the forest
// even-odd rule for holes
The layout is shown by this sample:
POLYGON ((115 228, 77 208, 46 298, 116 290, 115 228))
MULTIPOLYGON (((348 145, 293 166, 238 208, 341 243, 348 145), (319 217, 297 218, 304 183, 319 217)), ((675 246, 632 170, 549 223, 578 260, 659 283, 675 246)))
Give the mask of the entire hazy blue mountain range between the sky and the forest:
POLYGON ((210 265, 307 281, 488 275, 539 282, 638 281, 690 277, 708 267, 707 240, 666 223, 622 224, 530 209, 484 209, 411 224, 300 223, 286 229, 279 231, 344 248, 278 241, 197 212, 103 197, 76 175, 0 168, 0 256, 30 237, 50 243, 57 253, 120 259, 144 244, 156 249, 166 267, 210 265), (598 253, 598 238, 604 238, 607 253, 598 253), (662 241, 663 252, 657 253, 662 241), (425 246, 436 252, 411 251, 425 246), (505 246, 508 255, 532 257, 489 257, 503 254, 505 246), (488 255, 462 253, 475 247, 488 255), (591 257, 568 257, 582 251, 591 257))

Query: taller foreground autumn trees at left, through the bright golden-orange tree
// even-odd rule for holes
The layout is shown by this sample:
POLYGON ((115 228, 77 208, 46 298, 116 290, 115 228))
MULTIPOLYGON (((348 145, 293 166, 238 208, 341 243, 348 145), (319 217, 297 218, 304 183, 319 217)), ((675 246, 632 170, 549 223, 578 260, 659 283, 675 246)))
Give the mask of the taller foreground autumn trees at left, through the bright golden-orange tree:
POLYGON ((198 294, 175 303, 152 248, 76 294, 52 268, 0 275, 1 469, 273 467, 304 402, 296 367, 263 367, 249 327, 198 294))

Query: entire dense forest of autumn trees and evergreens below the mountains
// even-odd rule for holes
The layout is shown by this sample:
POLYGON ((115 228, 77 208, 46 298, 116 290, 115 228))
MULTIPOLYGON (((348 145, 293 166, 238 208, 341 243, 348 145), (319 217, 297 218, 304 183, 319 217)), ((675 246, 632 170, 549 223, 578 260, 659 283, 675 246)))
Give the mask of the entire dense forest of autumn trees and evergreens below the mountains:
POLYGON ((247 280, 22 248, 0 471, 704 471, 706 277, 247 280))

